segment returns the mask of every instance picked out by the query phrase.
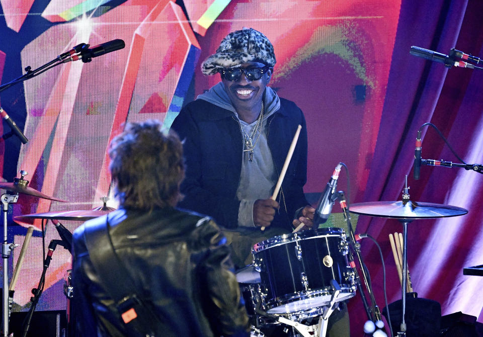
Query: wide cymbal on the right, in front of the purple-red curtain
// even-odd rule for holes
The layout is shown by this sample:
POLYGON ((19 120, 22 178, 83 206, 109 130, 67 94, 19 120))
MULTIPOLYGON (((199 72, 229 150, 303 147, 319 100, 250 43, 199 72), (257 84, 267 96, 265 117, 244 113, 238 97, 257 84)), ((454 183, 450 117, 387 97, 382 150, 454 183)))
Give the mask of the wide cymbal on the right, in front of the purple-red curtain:
POLYGON ((411 200, 363 202, 350 205, 349 211, 361 215, 408 220, 443 218, 468 213, 467 209, 461 207, 411 200))

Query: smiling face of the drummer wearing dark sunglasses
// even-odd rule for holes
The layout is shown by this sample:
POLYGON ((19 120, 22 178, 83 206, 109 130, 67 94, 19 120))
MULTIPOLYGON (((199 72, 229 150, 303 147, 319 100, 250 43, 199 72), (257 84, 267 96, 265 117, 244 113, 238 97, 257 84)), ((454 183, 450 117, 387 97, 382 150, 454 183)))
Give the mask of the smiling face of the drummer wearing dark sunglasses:
MULTIPOLYGON (((265 64, 260 62, 247 62, 242 63, 240 68, 262 68, 265 64)), ((270 82, 272 76, 272 68, 264 72, 262 78, 258 80, 250 80, 245 73, 241 73, 240 78, 235 81, 229 81, 222 78, 223 86, 225 88, 231 104, 235 108, 236 112, 243 120, 256 119, 260 113, 260 107, 262 104, 263 93, 265 87, 270 82)))

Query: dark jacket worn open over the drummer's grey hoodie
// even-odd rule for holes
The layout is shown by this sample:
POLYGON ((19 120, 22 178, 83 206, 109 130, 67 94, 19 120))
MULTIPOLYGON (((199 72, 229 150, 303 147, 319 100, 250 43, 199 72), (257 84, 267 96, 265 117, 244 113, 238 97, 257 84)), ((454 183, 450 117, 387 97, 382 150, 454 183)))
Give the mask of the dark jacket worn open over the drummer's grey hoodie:
MULTIPOLYGON (((302 126, 282 188, 280 210, 272 226, 292 229, 295 211, 308 205, 303 194, 307 181, 307 128, 295 103, 280 98, 280 109, 268 119, 268 145, 280 175, 298 125, 302 126)), ((185 180, 180 206, 208 214, 225 228, 238 226, 236 190, 240 181, 243 136, 231 111, 198 99, 187 104, 171 126, 184 140, 185 180)))

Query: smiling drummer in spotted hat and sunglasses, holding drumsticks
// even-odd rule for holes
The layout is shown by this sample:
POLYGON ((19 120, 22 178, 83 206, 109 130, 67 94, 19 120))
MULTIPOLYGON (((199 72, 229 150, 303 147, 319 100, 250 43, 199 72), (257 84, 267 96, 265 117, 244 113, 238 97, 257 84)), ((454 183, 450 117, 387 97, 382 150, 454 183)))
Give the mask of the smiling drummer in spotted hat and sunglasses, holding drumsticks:
POLYGON ((225 229, 238 267, 265 238, 312 226, 303 194, 307 129, 302 111, 268 87, 276 63, 268 38, 255 29, 228 34, 201 65, 221 81, 187 104, 172 128, 184 139, 185 195, 179 204, 214 217, 225 229), (276 200, 270 199, 290 143, 302 126, 276 200), (261 231, 261 227, 266 227, 261 231))

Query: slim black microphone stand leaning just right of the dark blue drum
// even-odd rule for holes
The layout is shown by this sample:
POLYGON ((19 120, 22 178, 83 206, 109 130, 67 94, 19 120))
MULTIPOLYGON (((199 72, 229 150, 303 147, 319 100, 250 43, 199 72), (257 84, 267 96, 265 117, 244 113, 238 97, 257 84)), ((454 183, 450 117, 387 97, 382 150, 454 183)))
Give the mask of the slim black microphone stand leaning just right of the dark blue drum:
POLYGON ((354 258, 352 256, 352 252, 349 250, 348 254, 349 254, 349 257, 350 257, 350 260, 351 260, 350 266, 352 267, 352 270, 353 270, 354 275, 355 275, 356 285, 357 285, 357 288, 359 290, 359 293, 361 294, 362 304, 364 305, 364 309, 366 310, 367 318, 369 320, 375 322, 377 320, 381 320, 381 312, 379 310, 379 307, 376 304, 374 294, 372 293, 371 287, 370 287, 369 282, 368 282, 368 276, 366 275, 366 271, 364 269, 364 264, 362 263, 362 256, 361 256, 361 249, 360 249, 361 245, 355 239, 354 230, 352 228, 352 223, 351 223, 351 217, 349 215, 349 209, 347 207, 344 192, 339 191, 338 194, 339 194, 338 198, 340 199, 340 205, 341 205, 341 208, 342 208, 342 212, 344 214, 344 219, 346 220, 347 227, 349 229, 349 239, 350 239, 350 242, 351 242, 351 244, 354 247, 354 250, 356 252, 356 256, 357 256, 357 260, 359 261, 359 265, 361 266, 362 277, 364 279, 364 284, 365 284, 367 291, 369 293, 369 296, 371 298, 371 302, 374 306, 374 312, 372 312, 372 308, 367 303, 365 293, 362 289, 361 280, 360 280, 359 274, 357 273, 356 265, 354 263, 354 258))

